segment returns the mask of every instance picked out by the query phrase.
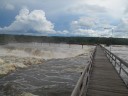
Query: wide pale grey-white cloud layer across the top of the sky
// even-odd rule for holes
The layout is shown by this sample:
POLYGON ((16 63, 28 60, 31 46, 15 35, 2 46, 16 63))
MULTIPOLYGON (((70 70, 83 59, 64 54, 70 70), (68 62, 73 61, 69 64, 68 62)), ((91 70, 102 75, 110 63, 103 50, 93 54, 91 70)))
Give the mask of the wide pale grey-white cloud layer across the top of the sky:
POLYGON ((0 5, 12 4, 17 8, 43 9, 48 14, 62 14, 70 11, 76 14, 105 13, 120 18, 127 9, 127 0, 0 0, 0 5))

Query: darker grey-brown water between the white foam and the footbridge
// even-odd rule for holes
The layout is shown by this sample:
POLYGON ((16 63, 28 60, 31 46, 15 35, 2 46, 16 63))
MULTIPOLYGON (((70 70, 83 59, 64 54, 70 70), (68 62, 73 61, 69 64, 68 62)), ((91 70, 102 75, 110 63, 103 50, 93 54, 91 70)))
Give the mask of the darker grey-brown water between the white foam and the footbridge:
MULTIPOLYGON (((81 47, 77 47, 80 51, 81 47)), ((77 54, 16 68, 15 72, 0 79, 0 96, 70 96, 80 73, 88 64, 89 52, 85 49, 81 49, 79 54, 76 48, 75 51, 69 49, 70 54, 77 54)), ((66 50, 61 49, 64 52, 66 50)))

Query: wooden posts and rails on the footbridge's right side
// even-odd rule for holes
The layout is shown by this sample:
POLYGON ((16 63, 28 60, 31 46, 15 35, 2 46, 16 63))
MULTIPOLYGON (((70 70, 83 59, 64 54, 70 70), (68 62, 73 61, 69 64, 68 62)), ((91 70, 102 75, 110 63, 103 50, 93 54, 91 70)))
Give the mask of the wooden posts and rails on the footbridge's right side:
MULTIPOLYGON (((101 46, 101 45, 100 45, 101 46)), ((116 66, 118 65, 119 70, 117 70, 117 73, 119 74, 119 76, 121 77, 121 73, 122 71, 127 75, 128 77, 128 71, 126 71, 126 69, 124 68, 124 66, 128 69, 128 63, 125 62, 124 60, 122 60, 121 58, 119 58, 118 56, 116 56, 115 54, 113 54, 112 52, 110 52, 108 49, 106 49, 105 47, 101 46, 104 50, 104 52, 106 53, 108 59, 110 60, 110 62, 113 63, 114 61, 114 68, 116 69, 116 66)), ((121 77, 122 78, 122 77, 121 77)), ((124 78, 122 78, 122 80, 124 81, 125 85, 128 87, 128 82, 124 80, 124 78)))

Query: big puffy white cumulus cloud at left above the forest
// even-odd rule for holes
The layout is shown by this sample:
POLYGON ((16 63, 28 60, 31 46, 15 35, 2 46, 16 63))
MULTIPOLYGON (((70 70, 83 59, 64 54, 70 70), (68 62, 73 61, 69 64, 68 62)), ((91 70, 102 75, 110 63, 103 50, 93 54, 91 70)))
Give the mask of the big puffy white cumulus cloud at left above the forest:
POLYGON ((8 27, 1 28, 2 31, 12 32, 39 32, 42 34, 54 33, 54 25, 46 19, 43 10, 29 11, 27 8, 20 10, 15 21, 8 27))

